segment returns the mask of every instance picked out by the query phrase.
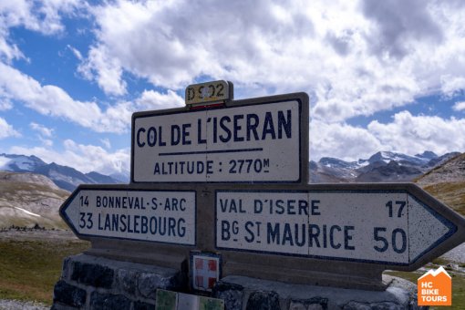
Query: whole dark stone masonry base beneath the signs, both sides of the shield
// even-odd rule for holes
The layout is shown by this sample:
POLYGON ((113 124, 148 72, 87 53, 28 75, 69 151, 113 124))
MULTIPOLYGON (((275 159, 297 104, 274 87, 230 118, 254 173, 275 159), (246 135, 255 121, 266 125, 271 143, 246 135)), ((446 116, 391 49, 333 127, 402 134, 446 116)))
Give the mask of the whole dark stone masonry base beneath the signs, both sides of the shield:
MULTIPOLYGON (((213 287, 225 310, 422 309, 417 285, 383 276, 384 291, 287 284, 229 275, 213 287)), ((157 289, 188 292, 187 274, 87 254, 70 256, 55 285, 52 309, 155 309, 157 289)))

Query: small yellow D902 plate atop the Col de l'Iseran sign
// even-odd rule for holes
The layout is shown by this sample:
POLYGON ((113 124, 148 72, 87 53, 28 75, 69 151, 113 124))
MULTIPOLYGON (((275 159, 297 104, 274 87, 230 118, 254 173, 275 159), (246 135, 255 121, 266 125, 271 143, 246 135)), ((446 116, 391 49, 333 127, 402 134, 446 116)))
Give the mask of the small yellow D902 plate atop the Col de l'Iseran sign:
POLYGON ((186 105, 201 105, 229 100, 233 97, 231 85, 223 80, 190 85, 186 88, 186 105))

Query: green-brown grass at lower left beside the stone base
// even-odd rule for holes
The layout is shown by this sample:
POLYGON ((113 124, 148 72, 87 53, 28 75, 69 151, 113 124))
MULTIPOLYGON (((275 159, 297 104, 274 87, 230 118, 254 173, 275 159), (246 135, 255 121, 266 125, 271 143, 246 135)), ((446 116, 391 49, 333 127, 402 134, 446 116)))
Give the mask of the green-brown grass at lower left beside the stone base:
POLYGON ((63 259, 88 247, 84 241, 0 240, 0 299, 51 305, 63 259))

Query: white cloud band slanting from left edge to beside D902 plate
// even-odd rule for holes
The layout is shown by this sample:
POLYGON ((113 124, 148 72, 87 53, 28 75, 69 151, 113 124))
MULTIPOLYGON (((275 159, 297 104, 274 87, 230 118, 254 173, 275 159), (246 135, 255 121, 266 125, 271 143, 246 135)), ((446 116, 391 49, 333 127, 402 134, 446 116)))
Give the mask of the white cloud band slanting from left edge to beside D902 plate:
MULTIPOLYGON (((96 102, 78 101, 53 85, 40 85, 13 67, 0 62, 0 98, 19 100, 26 107, 58 118, 65 118, 98 132, 126 132, 130 118, 137 109, 161 109, 182 104, 182 98, 172 91, 160 94, 144 91, 135 103, 120 101, 106 110, 96 102)), ((5 102, 5 101, 4 101, 5 102)))

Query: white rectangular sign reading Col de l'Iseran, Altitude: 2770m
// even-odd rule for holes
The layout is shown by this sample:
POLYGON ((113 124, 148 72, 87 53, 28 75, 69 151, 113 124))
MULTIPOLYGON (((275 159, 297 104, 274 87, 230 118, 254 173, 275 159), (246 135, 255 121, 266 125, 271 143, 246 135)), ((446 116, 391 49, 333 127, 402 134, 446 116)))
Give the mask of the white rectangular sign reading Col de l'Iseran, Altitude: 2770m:
POLYGON ((301 119, 296 99, 136 113, 132 181, 301 181, 301 119))

